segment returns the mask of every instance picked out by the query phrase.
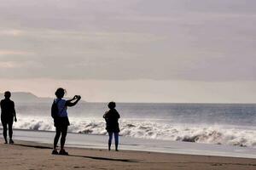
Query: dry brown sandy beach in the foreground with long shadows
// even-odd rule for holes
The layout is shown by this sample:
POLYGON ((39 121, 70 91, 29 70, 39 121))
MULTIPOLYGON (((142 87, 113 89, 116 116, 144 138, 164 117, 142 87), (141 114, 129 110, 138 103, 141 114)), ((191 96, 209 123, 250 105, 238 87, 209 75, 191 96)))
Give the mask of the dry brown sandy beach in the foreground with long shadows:
POLYGON ((190 156, 143 151, 67 148, 69 156, 51 155, 50 144, 15 141, 0 144, 0 167, 15 169, 225 169, 255 170, 256 159, 190 156))

